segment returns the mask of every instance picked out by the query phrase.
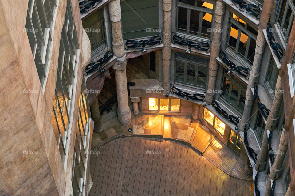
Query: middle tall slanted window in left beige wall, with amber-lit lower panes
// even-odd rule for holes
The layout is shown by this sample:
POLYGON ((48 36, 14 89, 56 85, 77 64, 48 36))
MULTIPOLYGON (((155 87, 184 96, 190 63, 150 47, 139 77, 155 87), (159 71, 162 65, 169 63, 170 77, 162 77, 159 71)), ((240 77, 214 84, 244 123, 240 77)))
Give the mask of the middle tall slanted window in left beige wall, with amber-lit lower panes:
POLYGON ((73 20, 71 3, 68 0, 65 22, 61 31, 56 89, 51 116, 53 131, 63 161, 66 155, 69 120, 73 115, 72 106, 75 92, 73 86, 78 66, 77 52, 77 31, 73 20))

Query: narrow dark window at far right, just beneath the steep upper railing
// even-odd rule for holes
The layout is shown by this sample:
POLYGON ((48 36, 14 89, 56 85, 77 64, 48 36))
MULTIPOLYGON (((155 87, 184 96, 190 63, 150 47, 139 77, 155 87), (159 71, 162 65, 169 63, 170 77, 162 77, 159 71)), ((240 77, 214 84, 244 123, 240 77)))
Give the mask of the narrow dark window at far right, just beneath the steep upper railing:
POLYGON ((269 97, 273 100, 274 92, 277 84, 277 77, 279 76, 279 70, 277 69, 277 64, 273 57, 270 59, 269 68, 265 78, 266 92, 268 92, 269 97))

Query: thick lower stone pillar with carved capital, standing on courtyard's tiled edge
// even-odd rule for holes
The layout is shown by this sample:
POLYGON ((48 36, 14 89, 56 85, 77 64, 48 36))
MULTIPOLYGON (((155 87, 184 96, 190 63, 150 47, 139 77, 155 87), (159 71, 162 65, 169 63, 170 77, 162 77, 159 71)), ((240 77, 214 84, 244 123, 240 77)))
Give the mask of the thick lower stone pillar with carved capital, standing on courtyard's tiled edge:
POLYGON ((112 66, 115 70, 116 90, 118 102, 118 119, 122 126, 129 126, 131 124, 131 112, 128 105, 128 90, 126 77, 126 55, 116 59, 116 63, 112 66))

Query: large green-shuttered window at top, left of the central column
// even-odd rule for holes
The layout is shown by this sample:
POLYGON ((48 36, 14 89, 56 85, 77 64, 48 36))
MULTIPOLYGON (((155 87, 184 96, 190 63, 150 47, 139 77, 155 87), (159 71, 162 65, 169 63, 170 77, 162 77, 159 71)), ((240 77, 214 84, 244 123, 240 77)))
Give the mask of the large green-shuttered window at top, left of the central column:
POLYGON ((124 39, 155 36, 159 31, 159 1, 125 0, 121 2, 124 39))

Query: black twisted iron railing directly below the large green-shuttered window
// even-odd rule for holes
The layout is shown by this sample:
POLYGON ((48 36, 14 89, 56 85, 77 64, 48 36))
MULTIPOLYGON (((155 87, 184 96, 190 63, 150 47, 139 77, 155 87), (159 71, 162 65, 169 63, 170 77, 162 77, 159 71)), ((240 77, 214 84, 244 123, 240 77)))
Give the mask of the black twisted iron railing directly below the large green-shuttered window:
POLYGON ((128 50, 129 48, 140 48, 141 47, 141 51, 146 52, 147 49, 146 47, 150 47, 156 44, 160 44, 162 43, 162 38, 160 36, 160 33, 156 36, 151 37, 148 40, 140 40, 140 41, 136 41, 136 40, 126 40, 126 50, 128 50))

